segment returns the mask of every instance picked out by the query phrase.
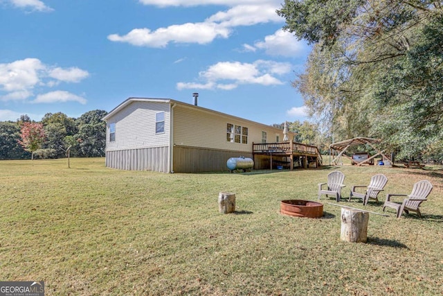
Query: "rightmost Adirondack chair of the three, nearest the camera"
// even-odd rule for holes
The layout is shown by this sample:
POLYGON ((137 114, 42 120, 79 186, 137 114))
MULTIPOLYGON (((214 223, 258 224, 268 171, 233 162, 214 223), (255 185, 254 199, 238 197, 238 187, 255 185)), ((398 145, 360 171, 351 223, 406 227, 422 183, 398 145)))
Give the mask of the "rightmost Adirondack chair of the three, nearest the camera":
POLYGON ((383 211, 386 207, 391 207, 392 209, 395 209, 397 211, 397 218, 401 217, 401 214, 403 214, 403 211, 408 214, 409 211, 415 211, 418 216, 422 216, 422 213, 420 213, 419 206, 427 200, 429 193, 432 191, 432 184, 428 180, 422 180, 414 184, 413 191, 410 193, 410 195, 406 194, 388 194, 386 195, 386 201, 385 204, 383 204, 383 211), (393 196, 407 196, 403 200, 403 202, 393 202, 391 198, 393 196))

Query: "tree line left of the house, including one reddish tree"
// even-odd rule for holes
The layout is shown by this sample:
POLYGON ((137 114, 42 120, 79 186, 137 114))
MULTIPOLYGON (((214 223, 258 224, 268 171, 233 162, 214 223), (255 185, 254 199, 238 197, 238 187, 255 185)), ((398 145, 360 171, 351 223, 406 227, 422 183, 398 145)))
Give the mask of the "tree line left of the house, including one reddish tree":
POLYGON ((93 110, 78 119, 62 112, 46 113, 36 122, 28 115, 17 121, 0 121, 0 159, 59 158, 69 150, 73 157, 104 157, 104 110, 93 110))

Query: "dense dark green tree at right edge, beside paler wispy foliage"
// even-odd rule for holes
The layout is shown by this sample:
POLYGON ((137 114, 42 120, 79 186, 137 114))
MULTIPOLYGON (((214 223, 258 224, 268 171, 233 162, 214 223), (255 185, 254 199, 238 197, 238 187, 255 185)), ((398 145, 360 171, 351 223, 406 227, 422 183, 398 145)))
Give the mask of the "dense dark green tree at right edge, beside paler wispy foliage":
POLYGON ((443 17, 416 31, 417 41, 377 80, 374 99, 383 116, 374 130, 399 157, 441 157, 443 137, 443 17))

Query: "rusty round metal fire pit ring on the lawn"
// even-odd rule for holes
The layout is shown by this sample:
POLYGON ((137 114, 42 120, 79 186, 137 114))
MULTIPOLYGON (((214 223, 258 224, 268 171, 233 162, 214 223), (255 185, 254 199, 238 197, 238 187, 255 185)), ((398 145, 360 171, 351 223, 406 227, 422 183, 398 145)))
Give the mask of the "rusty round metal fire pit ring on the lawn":
POLYGON ((280 213, 293 217, 320 218, 323 216, 323 204, 309 200, 282 200, 280 213))

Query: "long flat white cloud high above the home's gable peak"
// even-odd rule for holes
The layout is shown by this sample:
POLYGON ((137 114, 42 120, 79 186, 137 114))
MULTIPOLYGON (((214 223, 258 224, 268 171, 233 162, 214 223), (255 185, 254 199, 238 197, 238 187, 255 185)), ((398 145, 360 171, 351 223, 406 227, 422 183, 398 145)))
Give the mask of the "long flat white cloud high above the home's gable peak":
POLYGON ((187 23, 168 26, 151 31, 148 28, 136 28, 126 35, 111 34, 108 39, 114 42, 127 42, 135 46, 165 47, 170 42, 207 44, 216 37, 227 38, 228 28, 215 23, 187 23))

